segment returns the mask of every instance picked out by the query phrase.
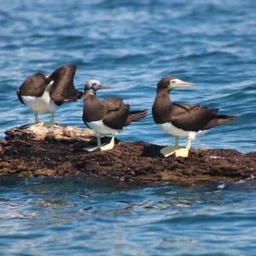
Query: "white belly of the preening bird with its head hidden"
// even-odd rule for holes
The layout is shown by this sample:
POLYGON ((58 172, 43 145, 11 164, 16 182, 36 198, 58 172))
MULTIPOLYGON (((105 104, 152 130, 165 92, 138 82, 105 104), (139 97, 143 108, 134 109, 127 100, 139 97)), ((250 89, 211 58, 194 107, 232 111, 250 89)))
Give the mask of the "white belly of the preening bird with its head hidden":
POLYGON ((58 108, 55 102, 49 97, 49 92, 46 90, 42 97, 21 96, 21 98, 28 108, 40 113, 55 112, 58 108))

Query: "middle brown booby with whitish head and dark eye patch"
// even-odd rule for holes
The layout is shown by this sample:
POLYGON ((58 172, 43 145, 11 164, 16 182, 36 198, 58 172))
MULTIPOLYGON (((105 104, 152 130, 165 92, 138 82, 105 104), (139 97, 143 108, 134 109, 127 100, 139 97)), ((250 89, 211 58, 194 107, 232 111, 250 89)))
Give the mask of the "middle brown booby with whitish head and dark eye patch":
POLYGON ((84 85, 84 124, 96 132, 97 145, 94 148, 84 148, 92 151, 96 148, 109 150, 114 146, 114 137, 124 128, 146 117, 148 109, 142 111, 130 111, 130 105, 125 104, 122 99, 113 97, 100 100, 96 96, 96 90, 109 89, 100 81, 90 79, 84 85), (101 136, 112 135, 110 143, 102 146, 101 136))

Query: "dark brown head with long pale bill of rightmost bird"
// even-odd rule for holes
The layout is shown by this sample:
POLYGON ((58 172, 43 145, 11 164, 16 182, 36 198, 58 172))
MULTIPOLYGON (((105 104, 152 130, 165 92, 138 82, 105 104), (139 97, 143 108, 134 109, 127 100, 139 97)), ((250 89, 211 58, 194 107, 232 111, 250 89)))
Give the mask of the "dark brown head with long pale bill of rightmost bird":
POLYGON ((165 77, 160 79, 160 82, 157 84, 157 91, 161 90, 172 90, 177 87, 192 87, 195 86, 195 84, 184 82, 180 79, 175 79, 173 77, 165 77))

